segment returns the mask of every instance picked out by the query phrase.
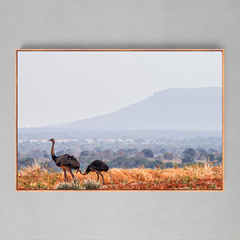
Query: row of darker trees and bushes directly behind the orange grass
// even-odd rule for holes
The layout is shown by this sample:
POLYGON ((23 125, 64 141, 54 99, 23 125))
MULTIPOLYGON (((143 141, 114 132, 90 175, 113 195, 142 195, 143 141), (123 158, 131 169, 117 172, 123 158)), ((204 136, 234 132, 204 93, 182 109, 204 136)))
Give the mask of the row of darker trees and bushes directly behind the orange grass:
MULTIPOLYGON (((66 151, 60 150, 56 152, 57 156, 65 153, 76 154, 75 152, 67 149, 66 151)), ((155 168, 164 162, 166 168, 182 167, 183 164, 193 164, 196 162, 204 162, 206 160, 216 161, 216 164, 221 164, 222 153, 214 148, 205 150, 204 148, 185 148, 183 151, 167 151, 165 148, 160 149, 159 154, 154 154, 154 151, 149 148, 138 150, 136 148, 119 149, 112 151, 105 150, 83 150, 75 155, 81 163, 81 168, 84 170, 88 164, 95 159, 104 160, 110 168, 135 168, 144 166, 145 168, 155 168)), ((56 171, 59 169, 51 160, 50 154, 46 150, 31 150, 28 154, 21 154, 18 152, 18 167, 31 165, 34 162, 40 163, 44 167, 52 168, 56 171)))

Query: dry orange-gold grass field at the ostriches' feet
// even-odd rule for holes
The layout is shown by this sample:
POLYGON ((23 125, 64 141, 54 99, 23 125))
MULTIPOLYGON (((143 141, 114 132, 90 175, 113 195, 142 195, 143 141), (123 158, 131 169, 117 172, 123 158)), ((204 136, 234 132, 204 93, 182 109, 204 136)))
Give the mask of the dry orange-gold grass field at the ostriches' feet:
MULTIPOLYGON (((222 190, 222 166, 212 167, 211 164, 194 164, 184 168, 146 169, 144 167, 133 169, 113 168, 104 172, 105 185, 100 183, 98 190, 222 190)), ((88 175, 75 174, 72 180, 67 175, 67 185, 64 184, 63 173, 54 173, 51 169, 41 168, 35 164, 23 168, 17 174, 18 190, 55 190, 55 189, 86 189, 83 186, 86 180, 97 184, 96 173, 88 175), (64 185, 64 188, 58 188, 64 185)), ((87 188, 94 189, 94 188, 87 188)), ((95 188, 96 189, 96 188, 95 188)))

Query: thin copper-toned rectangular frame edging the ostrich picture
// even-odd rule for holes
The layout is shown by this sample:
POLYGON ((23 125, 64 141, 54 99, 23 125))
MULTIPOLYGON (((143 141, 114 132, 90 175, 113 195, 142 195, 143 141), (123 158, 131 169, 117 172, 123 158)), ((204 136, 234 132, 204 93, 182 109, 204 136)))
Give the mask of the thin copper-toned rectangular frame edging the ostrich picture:
MULTIPOLYGON (((222 179, 222 190, 91 190, 92 191, 112 191, 112 192, 129 192, 129 191, 140 191, 140 192, 183 192, 183 191, 188 191, 188 192, 223 192, 225 190, 225 132, 224 132, 224 125, 225 125, 225 64, 224 64, 224 49, 16 49, 16 59, 15 59, 15 111, 16 111, 16 125, 15 125, 15 136, 16 136, 16 159, 15 159, 15 177, 16 177, 16 191, 56 191, 56 190, 19 190, 17 187, 17 151, 18 151, 18 52, 51 52, 51 51, 62 51, 62 52, 90 52, 90 51, 96 51, 96 52, 191 52, 191 51, 196 51, 196 52, 222 52, 222 166, 223 166, 223 179, 222 179)), ((57 190, 59 191, 79 191, 79 190, 57 190)), ((80 191, 88 191, 89 190, 80 190, 80 191)))

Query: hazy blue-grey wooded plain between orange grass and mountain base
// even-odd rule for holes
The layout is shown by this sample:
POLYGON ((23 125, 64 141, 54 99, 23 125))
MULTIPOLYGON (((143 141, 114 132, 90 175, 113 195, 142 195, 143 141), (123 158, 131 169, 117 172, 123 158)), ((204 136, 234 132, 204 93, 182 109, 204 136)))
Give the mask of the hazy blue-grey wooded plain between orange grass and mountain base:
MULTIPOLYGON (((171 132, 169 135, 171 136, 171 132)), ((195 136, 196 133, 193 132, 192 135, 195 136)), ((51 160, 50 149, 49 142, 40 140, 19 142, 18 168, 39 163, 44 168, 53 169, 55 172, 61 171, 51 160)), ((152 138, 142 136, 132 139, 126 137, 78 139, 58 141, 55 153, 75 155, 81 163, 82 170, 95 159, 106 161, 110 168, 144 166, 153 169, 162 162, 165 168, 172 168, 175 163, 182 167, 184 163, 200 163, 207 159, 215 161, 215 165, 218 165, 222 162, 222 138, 202 135, 179 139, 161 138, 156 135, 152 138)))

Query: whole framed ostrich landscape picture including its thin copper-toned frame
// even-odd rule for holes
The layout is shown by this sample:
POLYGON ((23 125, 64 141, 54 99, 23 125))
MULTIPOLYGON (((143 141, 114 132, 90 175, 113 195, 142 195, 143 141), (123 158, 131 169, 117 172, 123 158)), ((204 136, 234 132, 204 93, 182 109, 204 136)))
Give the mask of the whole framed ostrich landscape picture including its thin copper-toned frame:
POLYGON ((17 191, 223 191, 224 50, 16 50, 17 191))

